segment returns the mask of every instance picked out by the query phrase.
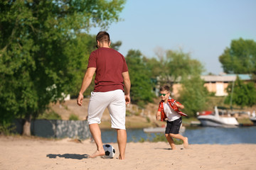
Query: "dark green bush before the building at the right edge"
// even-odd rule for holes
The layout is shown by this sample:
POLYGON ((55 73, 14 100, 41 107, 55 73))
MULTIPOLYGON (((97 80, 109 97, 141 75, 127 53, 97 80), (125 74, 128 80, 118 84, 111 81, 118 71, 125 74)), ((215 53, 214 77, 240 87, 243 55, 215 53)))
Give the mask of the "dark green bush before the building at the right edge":
POLYGON ((240 106, 241 108, 245 106, 253 106, 256 103, 256 89, 253 82, 245 83, 236 78, 234 89, 232 93, 232 83, 228 85, 228 96, 225 98, 225 103, 229 104, 232 98, 232 104, 240 106))

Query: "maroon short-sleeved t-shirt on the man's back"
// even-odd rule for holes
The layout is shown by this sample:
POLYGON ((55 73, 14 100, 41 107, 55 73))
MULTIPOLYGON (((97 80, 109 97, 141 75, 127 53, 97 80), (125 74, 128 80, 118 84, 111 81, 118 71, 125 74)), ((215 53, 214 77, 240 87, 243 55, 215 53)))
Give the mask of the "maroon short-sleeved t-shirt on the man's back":
POLYGON ((88 66, 96 68, 95 92, 122 89, 122 72, 128 72, 124 56, 112 48, 100 47, 90 54, 88 66))

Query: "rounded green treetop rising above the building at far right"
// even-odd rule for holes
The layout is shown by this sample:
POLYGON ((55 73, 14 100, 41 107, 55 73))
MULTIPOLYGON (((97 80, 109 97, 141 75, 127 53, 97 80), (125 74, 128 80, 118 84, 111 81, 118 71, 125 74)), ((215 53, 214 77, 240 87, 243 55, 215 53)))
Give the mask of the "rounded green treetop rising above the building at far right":
POLYGON ((256 42, 242 38, 232 40, 219 60, 226 73, 256 74, 256 42))

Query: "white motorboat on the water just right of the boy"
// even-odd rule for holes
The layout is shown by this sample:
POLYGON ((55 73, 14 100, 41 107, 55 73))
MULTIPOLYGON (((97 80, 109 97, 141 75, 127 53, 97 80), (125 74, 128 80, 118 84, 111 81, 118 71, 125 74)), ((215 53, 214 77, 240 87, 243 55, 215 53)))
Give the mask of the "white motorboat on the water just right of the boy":
POLYGON ((239 123, 233 117, 220 117, 218 108, 215 106, 215 112, 210 115, 198 115, 198 120, 203 126, 236 128, 239 123))

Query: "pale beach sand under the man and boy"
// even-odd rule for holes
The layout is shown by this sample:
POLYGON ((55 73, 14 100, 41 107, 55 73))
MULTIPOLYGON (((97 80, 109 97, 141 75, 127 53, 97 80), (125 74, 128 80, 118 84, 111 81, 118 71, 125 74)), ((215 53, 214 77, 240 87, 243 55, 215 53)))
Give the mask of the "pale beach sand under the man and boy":
POLYGON ((166 142, 129 142, 126 159, 88 158, 95 151, 90 140, 44 140, 0 137, 0 169, 256 169, 256 145, 190 145, 169 149, 166 142))

